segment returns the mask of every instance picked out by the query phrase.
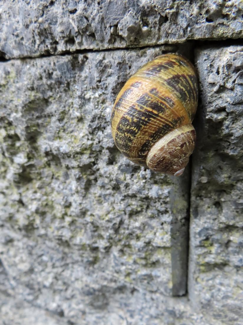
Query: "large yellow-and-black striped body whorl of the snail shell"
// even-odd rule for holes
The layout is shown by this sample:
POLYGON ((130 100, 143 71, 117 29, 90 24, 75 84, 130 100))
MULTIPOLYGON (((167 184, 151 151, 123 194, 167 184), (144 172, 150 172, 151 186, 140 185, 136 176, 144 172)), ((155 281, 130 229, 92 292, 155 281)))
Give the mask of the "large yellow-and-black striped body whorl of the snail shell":
POLYGON ((192 64, 166 54, 145 64, 123 86, 112 115, 117 148, 133 162, 146 163, 149 150, 163 136, 191 124, 197 108, 197 78, 192 64))

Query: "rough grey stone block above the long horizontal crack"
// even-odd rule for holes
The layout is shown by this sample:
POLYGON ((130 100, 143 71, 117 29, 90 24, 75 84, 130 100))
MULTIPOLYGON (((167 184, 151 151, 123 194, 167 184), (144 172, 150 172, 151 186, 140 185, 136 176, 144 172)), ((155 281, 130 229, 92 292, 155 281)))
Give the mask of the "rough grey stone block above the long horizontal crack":
POLYGON ((231 1, 3 0, 5 58, 243 37, 243 5, 231 1))

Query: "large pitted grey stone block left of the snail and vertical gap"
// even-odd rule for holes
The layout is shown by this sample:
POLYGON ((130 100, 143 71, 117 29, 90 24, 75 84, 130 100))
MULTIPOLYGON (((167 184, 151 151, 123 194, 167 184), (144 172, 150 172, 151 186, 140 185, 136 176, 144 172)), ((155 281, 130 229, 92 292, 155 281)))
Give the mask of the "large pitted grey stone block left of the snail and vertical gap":
MULTIPOLYGON (((6 322, 14 324, 7 306, 15 297, 69 324, 180 324, 184 313, 199 324, 186 303, 177 309, 177 300, 168 299, 172 181, 124 158, 110 130, 111 108, 128 76, 176 49, 0 63, 6 322)), ((178 218, 187 210, 184 200, 177 201, 178 218)))

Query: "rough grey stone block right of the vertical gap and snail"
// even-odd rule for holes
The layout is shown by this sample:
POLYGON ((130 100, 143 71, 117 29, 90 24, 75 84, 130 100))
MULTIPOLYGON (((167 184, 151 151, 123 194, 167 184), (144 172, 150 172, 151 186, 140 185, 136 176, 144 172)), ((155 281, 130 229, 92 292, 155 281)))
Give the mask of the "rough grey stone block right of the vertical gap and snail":
POLYGON ((243 319, 243 47, 196 50, 202 105, 192 162, 189 298, 209 319, 243 319))

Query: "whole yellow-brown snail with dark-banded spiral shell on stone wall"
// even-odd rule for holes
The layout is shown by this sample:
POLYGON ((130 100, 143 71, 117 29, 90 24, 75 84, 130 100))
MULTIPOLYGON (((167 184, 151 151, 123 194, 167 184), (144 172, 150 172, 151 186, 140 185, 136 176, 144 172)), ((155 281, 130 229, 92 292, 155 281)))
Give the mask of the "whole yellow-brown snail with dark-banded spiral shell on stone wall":
POLYGON ((146 63, 125 83, 111 113, 117 148, 132 162, 181 175, 196 141, 192 121, 198 83, 193 65, 178 54, 146 63))

